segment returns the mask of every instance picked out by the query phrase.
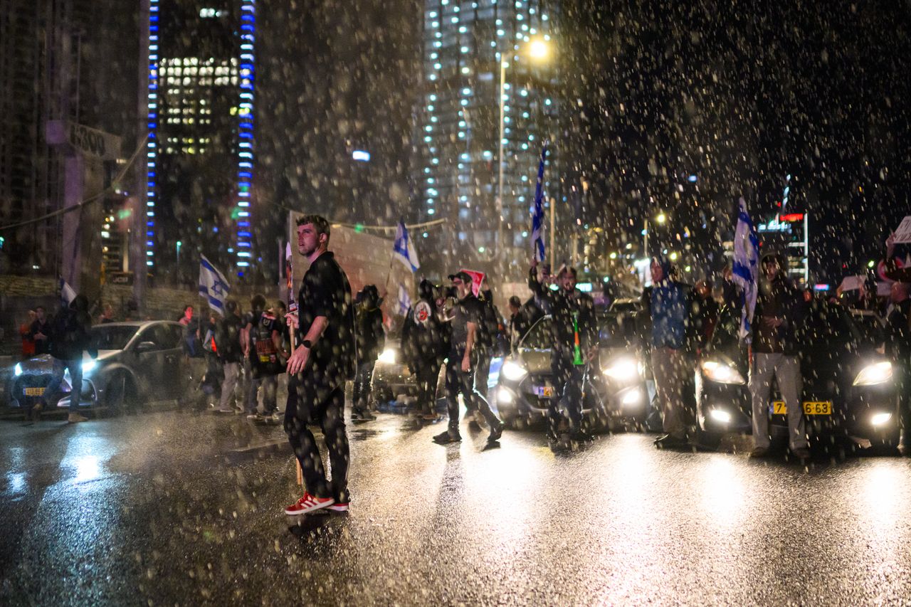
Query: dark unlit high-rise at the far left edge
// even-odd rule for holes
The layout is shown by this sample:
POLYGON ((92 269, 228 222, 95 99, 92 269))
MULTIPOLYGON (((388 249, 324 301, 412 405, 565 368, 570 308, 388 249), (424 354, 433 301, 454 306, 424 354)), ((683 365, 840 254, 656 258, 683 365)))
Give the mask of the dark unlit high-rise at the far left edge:
MULTIPOLYGON (((0 272, 60 274, 73 254, 62 251, 65 215, 57 212, 73 150, 48 143, 49 123, 110 133, 127 154, 137 145, 135 21, 135 7, 120 0, 0 3, 0 272)), ((101 185, 125 163, 107 159, 101 185)), ((122 203, 112 190, 86 195, 106 217, 122 203)), ((109 233, 106 246, 113 252, 126 238, 126 230, 109 233)))

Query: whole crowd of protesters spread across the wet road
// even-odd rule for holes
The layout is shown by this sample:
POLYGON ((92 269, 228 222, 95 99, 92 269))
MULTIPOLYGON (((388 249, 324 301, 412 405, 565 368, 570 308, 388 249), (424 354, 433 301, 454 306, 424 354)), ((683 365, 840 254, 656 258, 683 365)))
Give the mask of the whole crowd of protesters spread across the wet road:
MULTIPOLYGON (((375 285, 366 285, 356 296, 343 269, 328 250, 327 221, 308 215, 298 222, 298 251, 310 263, 297 293, 297 310, 286 314, 283 302, 268 304, 255 295, 249 311, 229 300, 223 314, 201 317, 192 305, 184 307, 178 322, 184 327, 184 353, 202 404, 216 414, 245 414, 253 423, 283 423, 302 470, 305 492, 286 509, 302 514, 329 508, 346 511, 351 499, 347 487, 348 442, 344 426, 344 386, 353 381, 351 419, 363 423, 376 417, 371 395, 374 364, 384 352, 385 324, 382 298, 375 285), (295 347, 296 346, 296 347, 295 347), (287 386, 280 417, 279 386, 287 386), (213 402, 210 402, 213 401, 213 402), (261 402, 261 405, 260 405, 261 402), (310 425, 322 427, 331 460, 331 478, 316 447, 310 425)), ((889 296, 876 300, 874 289, 859 281, 852 291, 839 289, 834 304, 875 311, 883 319, 885 355, 892 361, 900 399, 902 444, 911 428, 911 271, 894 259, 889 244, 885 274, 894 281, 889 296)), ((773 383, 787 406, 788 446, 799 458, 809 456, 801 401, 800 328, 814 301, 814 293, 788 277, 787 260, 779 253, 763 255, 759 262, 758 297, 750 328, 748 387, 752 397, 751 456, 765 457, 771 447, 769 410, 773 383)), ((663 432, 659 448, 698 448, 695 412, 688 397, 693 370, 700 356, 711 348, 712 333, 726 309, 739 310, 742 292, 730 268, 717 286, 708 280, 695 285, 681 282, 678 269, 658 256, 650 263, 650 286, 641 294, 637 317, 640 345, 654 378, 655 405, 663 432)), ((415 376, 413 417, 432 422, 436 411, 436 384, 445 374, 446 429, 435 435, 438 444, 461 440, 460 402, 466 420, 485 425, 487 447, 498 447, 503 422, 487 400, 491 360, 513 351, 528 329, 549 315, 550 370, 554 385, 548 408, 548 442, 561 441, 568 426, 569 441, 592 439, 582 424, 583 376, 598 355, 599 326, 595 304, 577 288, 574 268, 551 273, 533 262, 528 274, 531 297, 508 299, 507 316, 493 303, 493 293, 481 290, 476 276, 465 271, 450 274, 449 284, 423 280, 417 298, 404 316, 401 353, 404 365, 415 376), (567 411, 564 418, 561 410, 567 411)), ((114 310, 101 306, 97 323, 114 322, 114 310)), ((92 324, 84 295, 77 295, 53 318, 42 306, 29 312, 20 326, 22 355, 50 354, 55 380, 68 370, 80 382, 83 355, 97 355, 89 339, 92 324)), ((50 388, 55 387, 52 382, 50 388)), ((70 422, 85 421, 78 411, 79 398, 71 400, 70 422)))

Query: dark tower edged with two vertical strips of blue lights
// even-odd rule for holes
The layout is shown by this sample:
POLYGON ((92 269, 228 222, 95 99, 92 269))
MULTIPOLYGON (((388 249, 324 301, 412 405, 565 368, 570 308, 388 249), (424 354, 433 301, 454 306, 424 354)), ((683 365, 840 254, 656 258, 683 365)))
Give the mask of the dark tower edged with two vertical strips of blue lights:
POLYGON ((255 254, 255 0, 149 0, 148 15, 149 272, 176 267, 190 282, 201 253, 243 276, 255 254))

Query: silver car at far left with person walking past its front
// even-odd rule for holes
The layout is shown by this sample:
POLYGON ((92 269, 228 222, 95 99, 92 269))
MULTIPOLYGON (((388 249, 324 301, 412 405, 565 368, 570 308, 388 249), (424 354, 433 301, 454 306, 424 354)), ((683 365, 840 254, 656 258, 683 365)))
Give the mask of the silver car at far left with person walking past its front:
MULTIPOLYGON (((189 386, 184 365, 183 326, 169 321, 98 324, 91 336, 98 356, 82 363, 80 406, 122 408, 137 400, 183 396, 189 386)), ((39 400, 68 407, 73 390, 69 372, 56 395, 46 394, 54 359, 40 355, 15 365, 11 405, 31 410, 39 400)))

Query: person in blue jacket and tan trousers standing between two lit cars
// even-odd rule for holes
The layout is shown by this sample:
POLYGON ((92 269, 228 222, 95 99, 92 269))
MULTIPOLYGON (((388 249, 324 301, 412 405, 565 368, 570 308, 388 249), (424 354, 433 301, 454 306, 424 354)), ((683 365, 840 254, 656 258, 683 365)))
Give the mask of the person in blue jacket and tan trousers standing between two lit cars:
POLYGON ((658 448, 690 445, 687 433, 691 411, 683 400, 683 387, 691 368, 687 348, 691 303, 686 285, 674 280, 667 258, 651 259, 651 286, 642 292, 642 315, 648 327, 644 335, 651 350, 655 393, 663 413, 664 435, 655 440, 658 448))

